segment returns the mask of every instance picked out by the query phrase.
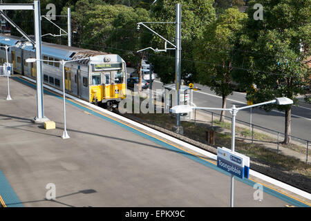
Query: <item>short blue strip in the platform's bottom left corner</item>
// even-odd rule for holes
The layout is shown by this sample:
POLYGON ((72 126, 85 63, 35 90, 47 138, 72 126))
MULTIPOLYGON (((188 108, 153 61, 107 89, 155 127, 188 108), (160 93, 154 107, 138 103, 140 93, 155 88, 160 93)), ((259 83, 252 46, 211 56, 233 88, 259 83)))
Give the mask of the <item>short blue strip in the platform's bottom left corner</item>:
POLYGON ((23 207, 12 186, 0 170, 0 195, 7 207, 23 207))

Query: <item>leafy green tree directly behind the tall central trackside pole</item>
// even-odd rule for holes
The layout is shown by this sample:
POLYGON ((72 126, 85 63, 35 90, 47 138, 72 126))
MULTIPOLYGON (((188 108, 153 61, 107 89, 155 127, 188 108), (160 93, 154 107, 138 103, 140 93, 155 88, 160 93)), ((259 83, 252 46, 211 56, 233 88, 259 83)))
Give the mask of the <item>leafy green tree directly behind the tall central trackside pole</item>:
MULTIPOLYGON (((202 31, 211 21, 214 21, 216 15, 212 7, 213 0, 158 0, 151 8, 151 19, 154 22, 175 22, 176 21, 176 4, 182 6, 182 77, 187 73, 195 75, 192 52, 194 49, 194 40, 202 37, 202 31)), ((174 44, 175 25, 173 23, 156 23, 149 26, 162 37, 174 44)), ((153 48, 164 49, 164 41, 153 35, 146 29, 141 28, 143 32, 149 33, 153 37, 149 46, 153 48)), ((167 44, 168 48, 172 48, 167 44)), ((153 63, 155 72, 158 73, 164 84, 170 83, 175 79, 175 50, 167 52, 149 53, 149 60, 153 63)))

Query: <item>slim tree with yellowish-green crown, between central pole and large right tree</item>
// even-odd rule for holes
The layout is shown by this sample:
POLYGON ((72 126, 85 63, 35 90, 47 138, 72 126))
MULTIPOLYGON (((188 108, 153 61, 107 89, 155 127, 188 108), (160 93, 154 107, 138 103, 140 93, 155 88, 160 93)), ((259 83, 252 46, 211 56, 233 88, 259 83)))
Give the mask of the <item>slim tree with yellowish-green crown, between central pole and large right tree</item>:
MULTIPOLYGON (((226 108, 227 96, 232 94, 232 49, 236 41, 236 32, 243 28, 247 15, 237 8, 229 8, 220 17, 207 26, 203 38, 196 41, 194 59, 198 61, 198 81, 210 86, 216 95, 223 97, 223 108, 226 108)), ((223 122, 221 112, 220 122, 223 122)))

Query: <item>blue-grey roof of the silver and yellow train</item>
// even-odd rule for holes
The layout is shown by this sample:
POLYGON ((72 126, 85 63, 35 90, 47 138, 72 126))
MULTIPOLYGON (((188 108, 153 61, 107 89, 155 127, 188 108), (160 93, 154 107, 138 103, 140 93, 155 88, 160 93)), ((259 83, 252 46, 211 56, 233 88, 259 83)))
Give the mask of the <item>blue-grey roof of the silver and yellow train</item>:
MULTIPOLYGON (((16 37, 12 35, 0 35, 0 44, 8 45, 8 46, 17 46, 19 48, 23 48, 23 50, 30 50, 35 52, 35 48, 33 46, 26 45, 24 43, 28 43, 23 37, 16 37)), ((108 55, 107 52, 100 52, 97 50, 89 50, 84 48, 77 47, 68 47, 59 44, 52 44, 42 41, 42 55, 47 55, 50 57, 55 57, 57 59, 64 60, 73 60, 73 59, 82 59, 84 57, 92 57, 96 55, 108 55)), ((82 63, 86 64, 88 60, 82 61, 82 63)))

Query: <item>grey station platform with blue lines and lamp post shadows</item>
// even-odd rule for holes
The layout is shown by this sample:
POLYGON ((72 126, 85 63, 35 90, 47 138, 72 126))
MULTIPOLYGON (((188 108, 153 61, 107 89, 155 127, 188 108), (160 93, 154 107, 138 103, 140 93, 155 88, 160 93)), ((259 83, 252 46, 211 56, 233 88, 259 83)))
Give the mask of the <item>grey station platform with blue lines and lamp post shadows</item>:
MULTIPOLYGON (((92 106, 45 89, 44 115, 34 124, 36 90, 22 77, 0 78, 0 204, 9 206, 229 206, 230 177, 216 161, 92 106), (47 200, 55 186, 56 198, 47 200)), ((310 200, 254 180, 235 179, 234 206, 310 206, 310 200)))

